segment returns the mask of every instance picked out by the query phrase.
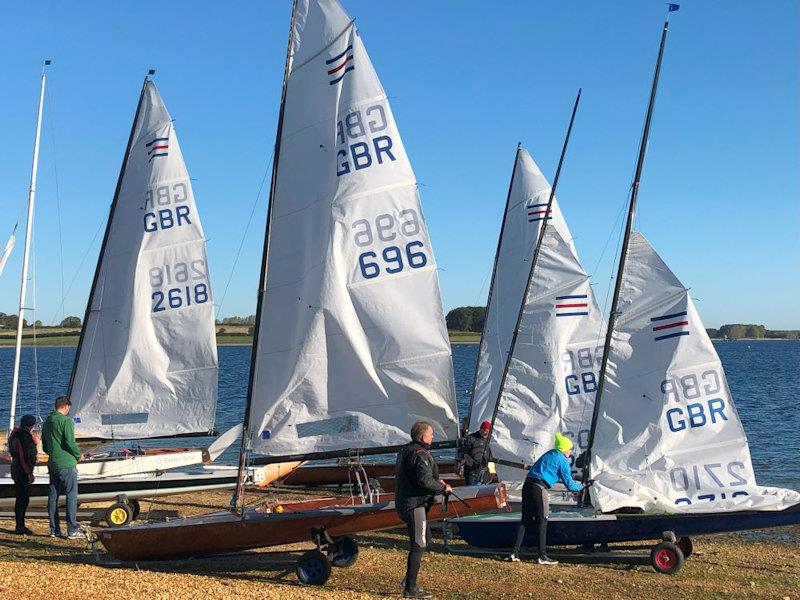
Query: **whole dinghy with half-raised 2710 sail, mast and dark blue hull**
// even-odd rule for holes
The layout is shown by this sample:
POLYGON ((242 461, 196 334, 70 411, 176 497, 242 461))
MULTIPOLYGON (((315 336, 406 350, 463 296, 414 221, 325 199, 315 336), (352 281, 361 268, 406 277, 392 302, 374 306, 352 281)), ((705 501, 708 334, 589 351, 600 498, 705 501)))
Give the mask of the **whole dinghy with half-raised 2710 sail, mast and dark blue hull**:
MULTIPOLYGON (((669 22, 664 24, 631 188, 589 431, 591 509, 556 513, 548 545, 663 540, 650 560, 674 573, 691 535, 800 523, 800 493, 758 486, 722 364, 688 290, 633 231, 669 22)), ((510 548, 519 517, 454 520, 478 548, 510 548)), ((533 546, 536 532, 526 535, 533 546)))

